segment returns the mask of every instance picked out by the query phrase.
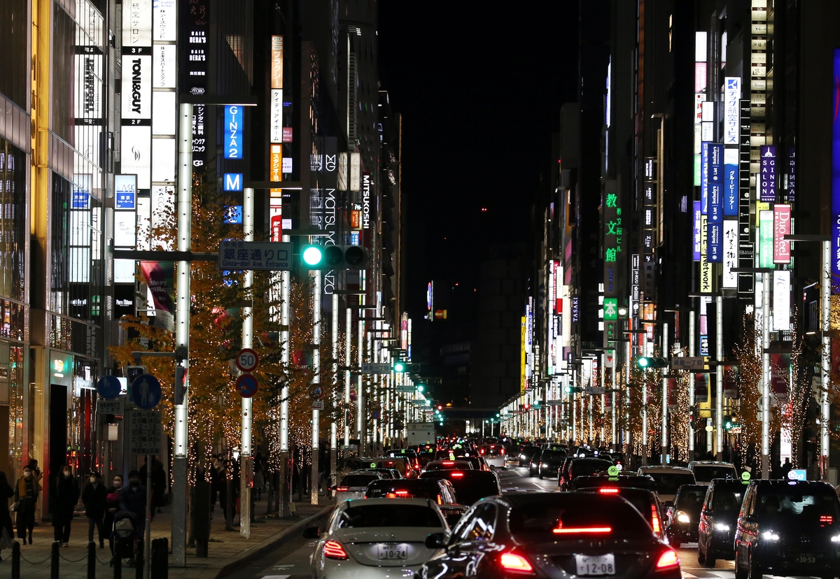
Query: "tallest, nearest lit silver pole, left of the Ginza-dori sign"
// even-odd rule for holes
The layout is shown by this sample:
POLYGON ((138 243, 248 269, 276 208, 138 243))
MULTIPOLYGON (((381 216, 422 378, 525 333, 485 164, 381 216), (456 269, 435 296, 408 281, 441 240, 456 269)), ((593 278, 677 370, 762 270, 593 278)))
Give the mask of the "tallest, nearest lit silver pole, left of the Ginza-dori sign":
MULTIPOLYGON (((178 251, 192 248, 192 104, 181 103, 178 120, 178 251)), ((190 262, 178 262, 175 346, 190 366, 190 262)), ((189 383, 183 404, 175 407, 175 451, 172 459, 172 566, 186 567, 186 454, 189 438, 189 383)), ((149 465, 151 471, 151 465, 149 465)))

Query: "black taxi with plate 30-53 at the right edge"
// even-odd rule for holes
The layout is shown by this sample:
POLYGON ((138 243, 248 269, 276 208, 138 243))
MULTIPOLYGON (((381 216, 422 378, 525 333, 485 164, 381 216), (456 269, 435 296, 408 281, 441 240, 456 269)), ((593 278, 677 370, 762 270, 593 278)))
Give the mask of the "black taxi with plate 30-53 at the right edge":
POLYGON ((735 530, 735 576, 837 576, 840 501, 827 483, 752 481, 735 530))

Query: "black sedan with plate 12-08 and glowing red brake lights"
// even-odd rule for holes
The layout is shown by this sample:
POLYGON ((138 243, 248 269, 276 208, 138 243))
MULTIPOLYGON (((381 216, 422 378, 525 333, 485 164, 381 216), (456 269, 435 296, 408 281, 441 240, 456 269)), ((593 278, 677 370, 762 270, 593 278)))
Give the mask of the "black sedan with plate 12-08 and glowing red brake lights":
POLYGON ((510 493, 476 503, 420 568, 423 579, 608 575, 680 579, 676 551, 623 498, 600 493, 510 493))

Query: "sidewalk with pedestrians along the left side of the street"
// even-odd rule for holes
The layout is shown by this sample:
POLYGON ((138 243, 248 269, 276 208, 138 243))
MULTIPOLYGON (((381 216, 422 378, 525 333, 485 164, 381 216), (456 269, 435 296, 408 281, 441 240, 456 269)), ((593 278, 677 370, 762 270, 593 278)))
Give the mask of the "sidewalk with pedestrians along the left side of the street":
MULTIPOLYGON (((297 496, 295 497, 297 498, 297 496)), ((295 503, 295 519, 265 519, 265 494, 262 501, 256 503, 256 522, 251 523, 251 538, 244 540, 239 536, 239 517, 234 519, 234 530, 224 530, 222 509, 216 505, 213 521, 210 525, 210 544, 207 558, 197 558, 195 548, 186 549, 186 567, 172 567, 170 554, 170 579, 216 579, 233 571, 237 564, 260 556, 270 550, 284 535, 297 533, 306 526, 307 519, 317 517, 334 504, 332 498, 321 495, 318 505, 309 503, 295 503)), ((156 514, 152 521, 152 539, 160 537, 170 538, 171 549, 171 507, 163 509, 163 513, 156 514)), ((17 533, 17 529, 15 529, 17 533)), ((94 539, 98 537, 94 530, 94 539)), ((20 576, 26 579, 49 579, 50 550, 53 542, 53 527, 50 523, 41 522, 32 534, 32 545, 21 545, 20 576)), ((3 550, 3 561, 0 562, 0 577, 11 575, 12 550, 3 550)), ((70 546, 60 550, 60 579, 87 578, 87 519, 83 516, 73 519, 71 526, 70 546)), ((97 577, 113 577, 113 568, 109 565, 111 551, 108 550, 108 540, 105 548, 97 548, 97 577)), ((134 579, 134 567, 123 566, 123 579, 134 579)))

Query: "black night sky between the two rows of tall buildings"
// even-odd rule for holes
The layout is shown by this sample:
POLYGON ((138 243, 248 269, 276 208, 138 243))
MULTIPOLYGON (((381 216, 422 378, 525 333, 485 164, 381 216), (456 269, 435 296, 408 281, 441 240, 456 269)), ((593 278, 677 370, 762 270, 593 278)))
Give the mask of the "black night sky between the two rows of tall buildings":
POLYGON ((403 115, 412 317, 428 280, 475 284, 483 246, 528 241, 559 107, 575 100, 576 5, 381 0, 381 87, 403 115))

